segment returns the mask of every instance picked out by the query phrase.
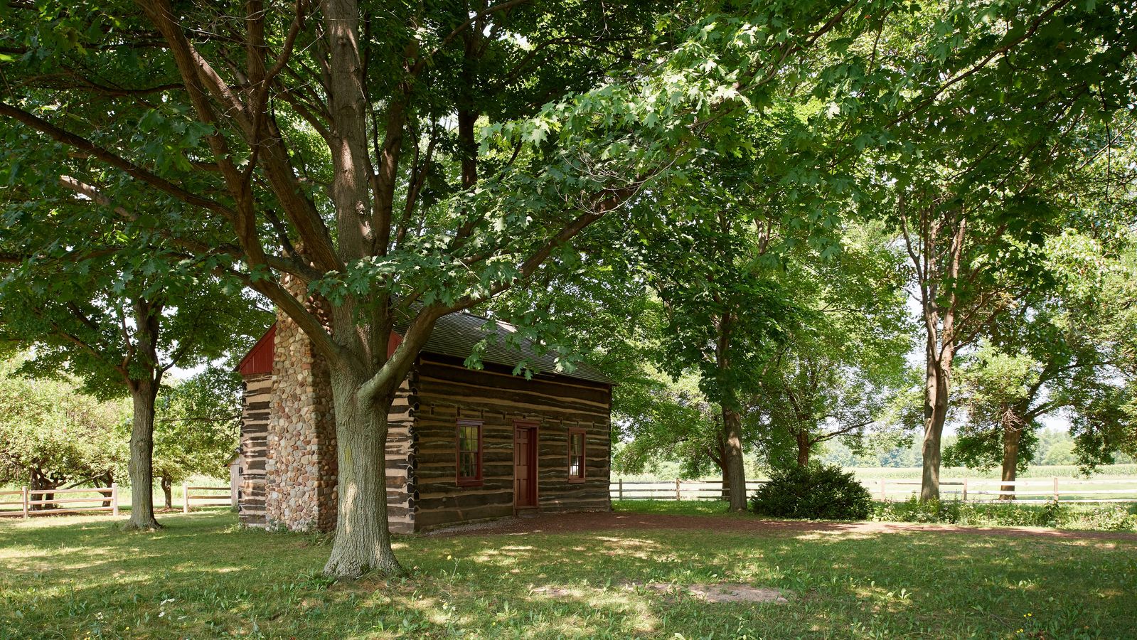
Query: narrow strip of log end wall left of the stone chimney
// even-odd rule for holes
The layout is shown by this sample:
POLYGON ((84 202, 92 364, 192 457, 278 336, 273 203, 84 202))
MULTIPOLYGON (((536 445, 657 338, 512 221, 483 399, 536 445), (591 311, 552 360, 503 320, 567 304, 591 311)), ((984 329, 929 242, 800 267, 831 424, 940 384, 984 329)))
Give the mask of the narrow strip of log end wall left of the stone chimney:
POLYGON ((238 515, 246 526, 265 526, 265 454, 272 396, 272 374, 244 376, 238 515))

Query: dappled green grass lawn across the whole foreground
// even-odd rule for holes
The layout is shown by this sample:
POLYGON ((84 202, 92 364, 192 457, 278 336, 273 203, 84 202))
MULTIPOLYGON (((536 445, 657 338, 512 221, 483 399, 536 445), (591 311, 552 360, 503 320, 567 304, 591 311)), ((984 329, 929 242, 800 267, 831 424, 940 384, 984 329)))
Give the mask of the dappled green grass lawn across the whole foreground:
POLYGON ((132 534, 107 516, 0 522, 0 638, 1122 638, 1137 629, 1137 545, 1123 541, 404 537, 407 579, 337 584, 319 575, 326 538, 241 531, 221 512, 163 522, 132 534), (789 602, 707 604, 629 587, 716 581, 779 588, 789 602))

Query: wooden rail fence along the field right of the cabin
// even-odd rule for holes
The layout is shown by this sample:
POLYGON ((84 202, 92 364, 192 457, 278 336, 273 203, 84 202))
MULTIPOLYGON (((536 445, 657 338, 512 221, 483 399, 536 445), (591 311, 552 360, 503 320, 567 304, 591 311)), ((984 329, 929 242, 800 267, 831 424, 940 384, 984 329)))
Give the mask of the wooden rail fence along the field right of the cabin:
MULTIPOLYGON (((764 480, 746 483, 747 496, 764 480)), ((919 480, 862 480, 861 483, 881 501, 901 501, 920 493, 919 480)), ((719 480, 632 481, 617 479, 608 494, 616 500, 713 500, 727 497, 719 480)), ((1137 502, 1137 477, 1079 480, 1070 477, 1032 477, 1002 480, 941 480, 941 498, 970 502, 1015 500, 1019 504, 1062 502, 1137 502), (1103 487, 1104 485, 1104 487, 1103 487), (1098 488, 1101 487, 1101 488, 1098 488), (1006 488, 1006 489, 1004 489, 1006 488)))

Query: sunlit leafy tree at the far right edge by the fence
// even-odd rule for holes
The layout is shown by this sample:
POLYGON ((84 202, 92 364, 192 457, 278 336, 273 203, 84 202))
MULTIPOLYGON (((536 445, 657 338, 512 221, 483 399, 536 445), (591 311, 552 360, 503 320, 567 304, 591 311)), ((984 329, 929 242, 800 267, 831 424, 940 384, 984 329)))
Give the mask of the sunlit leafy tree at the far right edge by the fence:
POLYGON ((965 422, 951 460, 1001 465, 1003 491, 1013 491, 1016 473, 1036 457, 1046 416, 1070 422, 1073 451, 1087 468, 1128 446, 1137 424, 1127 408, 1137 380, 1137 340, 1128 327, 1137 271, 1127 259, 1130 233, 1122 228, 1119 241, 1121 255, 1072 230, 1047 242, 1053 284, 1023 296, 1014 314, 991 326, 990 339, 963 357, 965 422))

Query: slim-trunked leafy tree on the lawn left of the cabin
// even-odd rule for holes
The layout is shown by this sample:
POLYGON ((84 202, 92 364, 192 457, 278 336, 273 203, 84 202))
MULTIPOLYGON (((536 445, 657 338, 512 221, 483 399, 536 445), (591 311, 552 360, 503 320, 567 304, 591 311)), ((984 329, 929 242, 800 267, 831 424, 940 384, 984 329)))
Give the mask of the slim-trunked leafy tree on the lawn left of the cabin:
MULTIPOLYGON (((31 203, 15 206, 26 213, 31 203)), ((65 200, 59 210, 89 206, 65 200)), ((138 228, 126 223, 111 235, 132 231, 138 228)), ((0 338, 34 344, 23 373, 65 371, 86 393, 131 399, 134 490, 126 526, 149 530, 159 526, 151 494, 153 419, 166 372, 226 354, 234 336, 248 341, 263 331, 268 314, 239 286, 179 261, 160 244, 107 255, 107 241, 44 224, 0 228, 0 246, 15 252, 0 280, 0 338)))

